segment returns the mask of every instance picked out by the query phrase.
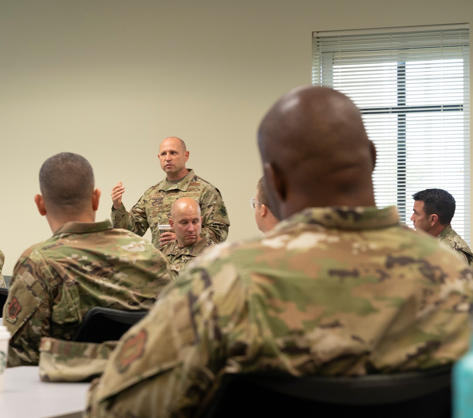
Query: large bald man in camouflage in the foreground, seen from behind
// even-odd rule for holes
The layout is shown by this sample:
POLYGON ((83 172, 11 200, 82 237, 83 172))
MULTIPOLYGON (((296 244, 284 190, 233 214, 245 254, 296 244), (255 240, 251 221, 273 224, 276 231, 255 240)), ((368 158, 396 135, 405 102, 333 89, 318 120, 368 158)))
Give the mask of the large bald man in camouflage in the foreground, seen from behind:
POLYGON ((375 207, 375 148, 350 99, 290 91, 258 138, 283 221, 206 251, 166 287, 91 387, 87 417, 195 416, 225 372, 388 373, 467 350, 472 273, 375 207))

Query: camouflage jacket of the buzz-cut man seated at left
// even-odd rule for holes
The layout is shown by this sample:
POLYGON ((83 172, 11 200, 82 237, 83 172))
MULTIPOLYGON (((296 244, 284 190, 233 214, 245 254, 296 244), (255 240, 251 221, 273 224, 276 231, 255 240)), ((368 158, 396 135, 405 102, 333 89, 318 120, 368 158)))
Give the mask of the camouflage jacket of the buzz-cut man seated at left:
POLYGON ((174 278, 159 250, 110 221, 65 223, 13 271, 3 308, 9 366, 38 364, 41 337, 70 339, 94 306, 149 310, 174 278))

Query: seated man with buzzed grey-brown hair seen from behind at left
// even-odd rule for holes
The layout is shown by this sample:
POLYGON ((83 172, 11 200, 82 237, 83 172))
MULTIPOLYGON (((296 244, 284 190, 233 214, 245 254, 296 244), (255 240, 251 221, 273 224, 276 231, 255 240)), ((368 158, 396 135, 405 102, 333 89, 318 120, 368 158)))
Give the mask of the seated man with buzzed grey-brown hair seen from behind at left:
POLYGON ((151 243, 110 221, 95 222, 100 190, 88 161, 62 152, 39 173, 35 196, 53 236, 27 249, 3 309, 9 366, 36 365, 42 337, 70 339, 94 306, 149 310, 175 269, 151 243))

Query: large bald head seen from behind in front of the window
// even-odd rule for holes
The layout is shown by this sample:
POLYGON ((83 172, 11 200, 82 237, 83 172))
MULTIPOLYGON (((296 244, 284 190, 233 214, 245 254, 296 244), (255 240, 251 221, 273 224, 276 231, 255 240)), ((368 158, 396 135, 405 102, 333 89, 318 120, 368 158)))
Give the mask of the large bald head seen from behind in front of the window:
POLYGON ((342 93, 313 86, 289 91, 264 116, 258 143, 280 219, 305 207, 374 205, 374 146, 342 93))

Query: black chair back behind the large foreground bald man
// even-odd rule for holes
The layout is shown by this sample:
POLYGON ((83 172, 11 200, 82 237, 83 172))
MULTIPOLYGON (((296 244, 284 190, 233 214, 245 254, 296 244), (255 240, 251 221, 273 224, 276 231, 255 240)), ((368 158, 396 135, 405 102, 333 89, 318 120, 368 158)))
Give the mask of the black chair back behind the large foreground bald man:
POLYGON ((360 377, 226 374, 204 418, 451 416, 451 365, 360 377))

